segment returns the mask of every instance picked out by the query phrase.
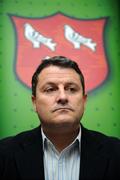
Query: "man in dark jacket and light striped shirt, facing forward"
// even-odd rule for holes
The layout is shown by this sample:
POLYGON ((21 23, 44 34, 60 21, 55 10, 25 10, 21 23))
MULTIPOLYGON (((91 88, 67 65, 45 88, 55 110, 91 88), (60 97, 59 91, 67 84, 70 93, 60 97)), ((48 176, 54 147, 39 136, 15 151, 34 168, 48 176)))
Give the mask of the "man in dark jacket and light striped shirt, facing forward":
POLYGON ((43 60, 32 77, 41 126, 0 142, 0 179, 120 179, 120 141, 80 124, 86 99, 74 61, 43 60))

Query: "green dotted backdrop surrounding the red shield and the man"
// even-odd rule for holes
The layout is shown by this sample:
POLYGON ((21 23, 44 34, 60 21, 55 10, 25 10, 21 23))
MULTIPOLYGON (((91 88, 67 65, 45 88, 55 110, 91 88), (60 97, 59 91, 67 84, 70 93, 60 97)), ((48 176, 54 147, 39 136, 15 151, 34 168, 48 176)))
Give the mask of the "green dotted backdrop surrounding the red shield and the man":
POLYGON ((39 124, 31 91, 14 72, 15 34, 8 14, 44 17, 56 12, 82 19, 109 17, 105 32, 110 74, 88 94, 82 123, 85 127, 120 137, 120 50, 117 0, 0 0, 0 138, 32 129, 39 124))

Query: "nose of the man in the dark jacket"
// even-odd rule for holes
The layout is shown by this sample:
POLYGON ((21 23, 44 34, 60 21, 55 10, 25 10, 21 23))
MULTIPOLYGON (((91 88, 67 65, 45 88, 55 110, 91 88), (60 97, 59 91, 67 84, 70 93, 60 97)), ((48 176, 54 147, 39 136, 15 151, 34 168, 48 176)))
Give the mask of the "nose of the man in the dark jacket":
POLYGON ((68 97, 64 89, 59 90, 57 103, 61 105, 66 105, 68 103, 68 97))

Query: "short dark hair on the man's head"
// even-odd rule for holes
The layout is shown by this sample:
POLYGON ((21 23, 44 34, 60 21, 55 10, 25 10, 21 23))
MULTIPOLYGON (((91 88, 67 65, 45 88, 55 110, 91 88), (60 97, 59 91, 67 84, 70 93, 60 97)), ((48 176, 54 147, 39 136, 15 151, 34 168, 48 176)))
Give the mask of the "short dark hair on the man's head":
POLYGON ((38 75, 44 68, 51 66, 51 65, 62 67, 62 68, 74 69, 80 76, 80 80, 81 80, 81 84, 82 84, 82 88, 83 88, 83 94, 85 94, 84 76, 83 76, 80 68, 78 67, 78 64, 75 61, 68 59, 64 56, 54 56, 51 58, 43 59, 41 64, 37 67, 36 71, 34 72, 34 74, 32 76, 32 95, 36 96, 36 86, 37 86, 37 82, 38 82, 38 75))

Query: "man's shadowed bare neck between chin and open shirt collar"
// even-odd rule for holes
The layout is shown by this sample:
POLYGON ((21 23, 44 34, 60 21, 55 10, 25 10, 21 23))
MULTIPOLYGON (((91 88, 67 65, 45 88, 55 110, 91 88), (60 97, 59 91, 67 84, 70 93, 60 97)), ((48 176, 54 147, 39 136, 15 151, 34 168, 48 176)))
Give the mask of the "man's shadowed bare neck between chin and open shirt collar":
POLYGON ((53 130, 51 131, 43 128, 44 134, 54 144, 58 152, 61 152, 74 141, 74 139, 77 137, 79 133, 79 130, 80 126, 74 130, 69 130, 66 132, 62 132, 60 130, 53 132, 53 130))

